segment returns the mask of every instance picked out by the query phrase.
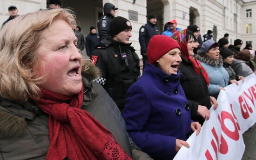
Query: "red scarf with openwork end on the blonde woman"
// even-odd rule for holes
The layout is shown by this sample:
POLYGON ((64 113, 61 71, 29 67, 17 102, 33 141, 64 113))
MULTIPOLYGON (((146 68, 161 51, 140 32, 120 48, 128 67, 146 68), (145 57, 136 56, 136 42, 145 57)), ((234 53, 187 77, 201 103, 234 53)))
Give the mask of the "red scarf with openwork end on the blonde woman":
POLYGON ((41 89, 37 105, 49 115, 50 146, 46 160, 132 160, 114 136, 81 109, 83 89, 63 96, 41 89))

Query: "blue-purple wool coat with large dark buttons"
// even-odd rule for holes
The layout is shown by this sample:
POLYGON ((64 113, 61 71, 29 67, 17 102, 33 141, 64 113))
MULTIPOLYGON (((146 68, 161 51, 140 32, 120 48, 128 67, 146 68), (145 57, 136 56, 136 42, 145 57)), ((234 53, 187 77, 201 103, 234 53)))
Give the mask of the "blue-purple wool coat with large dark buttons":
POLYGON ((180 71, 168 75, 147 62, 143 75, 128 90, 122 112, 127 131, 154 159, 172 160, 176 139, 186 141, 191 131, 189 104, 180 76, 180 71))

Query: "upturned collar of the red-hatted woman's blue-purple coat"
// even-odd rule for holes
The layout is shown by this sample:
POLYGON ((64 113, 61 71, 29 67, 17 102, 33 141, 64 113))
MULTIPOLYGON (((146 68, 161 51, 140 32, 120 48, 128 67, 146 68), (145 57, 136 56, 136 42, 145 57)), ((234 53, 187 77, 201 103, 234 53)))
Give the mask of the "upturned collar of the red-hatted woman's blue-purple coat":
POLYGON ((152 64, 148 62, 145 64, 145 68, 142 76, 149 77, 150 80, 154 81, 155 84, 161 85, 163 87, 169 87, 169 89, 173 87, 178 87, 180 85, 180 76, 181 71, 178 70, 177 74, 168 75, 162 70, 158 69, 152 64))

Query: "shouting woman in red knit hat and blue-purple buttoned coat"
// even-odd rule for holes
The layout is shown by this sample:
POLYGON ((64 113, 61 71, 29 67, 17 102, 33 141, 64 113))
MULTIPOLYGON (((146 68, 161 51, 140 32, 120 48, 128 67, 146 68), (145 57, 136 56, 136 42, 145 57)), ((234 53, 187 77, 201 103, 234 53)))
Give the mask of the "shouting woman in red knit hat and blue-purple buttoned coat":
POLYGON ((186 142, 191 130, 201 125, 191 121, 188 100, 180 84, 180 46, 168 36, 155 35, 148 44, 148 62, 143 75, 129 88, 122 116, 129 135, 154 159, 171 160, 186 142))

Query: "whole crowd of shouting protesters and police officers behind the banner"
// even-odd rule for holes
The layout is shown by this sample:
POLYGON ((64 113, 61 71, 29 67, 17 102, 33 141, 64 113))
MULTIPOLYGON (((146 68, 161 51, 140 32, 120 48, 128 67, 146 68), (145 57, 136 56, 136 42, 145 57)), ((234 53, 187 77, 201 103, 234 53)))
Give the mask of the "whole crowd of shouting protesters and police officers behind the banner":
POLYGON ((155 14, 139 29, 103 6, 90 33, 74 12, 48 9, 10 18, 0 30, 0 157, 3 160, 170 160, 218 107, 220 90, 256 73, 252 45, 200 34, 175 19, 160 35, 155 14), (89 58, 82 58, 86 48, 89 58), (26 146, 26 147, 24 147, 26 146))

